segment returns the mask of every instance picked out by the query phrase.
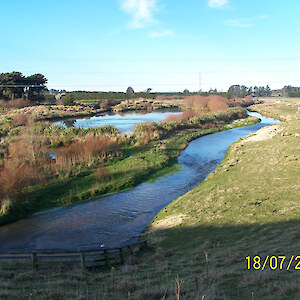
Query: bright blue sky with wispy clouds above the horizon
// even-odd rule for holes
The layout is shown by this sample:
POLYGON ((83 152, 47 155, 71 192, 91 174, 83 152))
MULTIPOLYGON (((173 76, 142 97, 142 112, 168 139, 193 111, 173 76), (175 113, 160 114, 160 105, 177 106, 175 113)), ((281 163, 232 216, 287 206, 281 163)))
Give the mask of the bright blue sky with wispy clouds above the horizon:
POLYGON ((298 0, 1 0, 0 72, 67 90, 300 86, 298 0))

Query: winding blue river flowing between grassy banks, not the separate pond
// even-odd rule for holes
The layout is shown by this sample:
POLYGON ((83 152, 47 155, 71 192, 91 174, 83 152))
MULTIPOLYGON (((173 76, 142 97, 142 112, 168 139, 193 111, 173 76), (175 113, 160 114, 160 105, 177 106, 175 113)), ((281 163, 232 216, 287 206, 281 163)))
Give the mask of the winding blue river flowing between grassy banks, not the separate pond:
POLYGON ((262 121, 190 142, 178 157, 182 165, 178 172, 129 191, 51 209, 0 227, 0 250, 110 248, 137 241, 162 208, 199 185, 217 167, 232 143, 279 123, 249 114, 262 121))

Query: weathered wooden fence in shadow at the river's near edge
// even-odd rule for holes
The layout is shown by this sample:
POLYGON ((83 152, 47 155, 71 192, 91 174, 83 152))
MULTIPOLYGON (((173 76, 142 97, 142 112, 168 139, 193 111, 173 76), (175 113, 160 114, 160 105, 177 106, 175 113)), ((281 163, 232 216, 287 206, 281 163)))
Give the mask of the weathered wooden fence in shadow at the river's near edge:
POLYGON ((42 264, 80 264, 81 269, 124 264, 126 257, 148 248, 141 241, 122 248, 92 250, 36 250, 0 252, 0 263, 31 264, 33 269, 42 264))

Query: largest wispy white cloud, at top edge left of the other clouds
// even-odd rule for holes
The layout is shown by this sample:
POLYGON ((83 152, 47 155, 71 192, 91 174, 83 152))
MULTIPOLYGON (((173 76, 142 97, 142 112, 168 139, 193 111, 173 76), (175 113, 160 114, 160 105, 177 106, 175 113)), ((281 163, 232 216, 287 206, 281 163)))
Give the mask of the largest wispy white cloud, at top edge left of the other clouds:
POLYGON ((130 28, 142 28, 156 22, 153 15, 158 11, 157 0, 122 0, 121 8, 132 16, 130 28))

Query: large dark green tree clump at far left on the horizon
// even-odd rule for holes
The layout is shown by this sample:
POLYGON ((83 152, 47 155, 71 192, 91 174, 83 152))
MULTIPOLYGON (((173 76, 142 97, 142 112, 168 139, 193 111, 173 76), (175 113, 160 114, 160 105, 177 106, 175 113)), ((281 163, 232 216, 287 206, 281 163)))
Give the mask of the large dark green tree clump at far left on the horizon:
POLYGON ((0 74, 0 99, 14 100, 18 98, 42 102, 47 91, 47 78, 43 74, 24 76, 21 72, 0 74))

